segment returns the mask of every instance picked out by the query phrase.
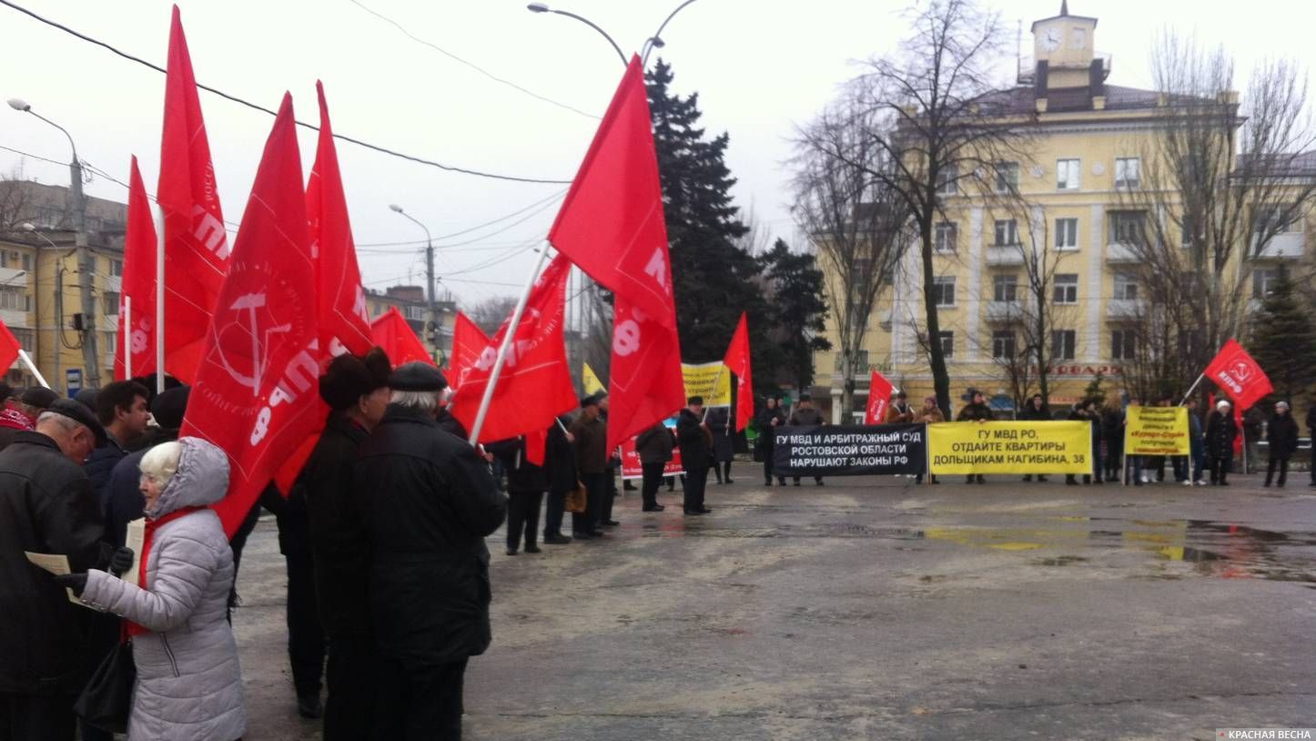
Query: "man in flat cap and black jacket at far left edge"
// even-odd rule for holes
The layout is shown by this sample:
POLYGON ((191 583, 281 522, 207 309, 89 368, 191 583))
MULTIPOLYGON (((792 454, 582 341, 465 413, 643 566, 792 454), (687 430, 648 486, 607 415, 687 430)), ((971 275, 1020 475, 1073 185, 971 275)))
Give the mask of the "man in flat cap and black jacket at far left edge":
POLYGON ((0 451, 0 738, 71 741, 74 700, 100 661, 93 615, 24 551, 61 554, 72 571, 101 561, 104 524, 82 462, 105 432, 62 399, 0 451))

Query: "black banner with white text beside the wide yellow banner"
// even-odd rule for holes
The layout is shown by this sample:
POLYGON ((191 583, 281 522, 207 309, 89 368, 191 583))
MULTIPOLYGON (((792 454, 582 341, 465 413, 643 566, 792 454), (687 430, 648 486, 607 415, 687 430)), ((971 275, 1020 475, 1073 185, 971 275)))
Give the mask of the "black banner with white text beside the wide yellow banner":
POLYGON ((772 438, 772 474, 921 474, 928 465, 926 441, 924 425, 783 426, 772 438))

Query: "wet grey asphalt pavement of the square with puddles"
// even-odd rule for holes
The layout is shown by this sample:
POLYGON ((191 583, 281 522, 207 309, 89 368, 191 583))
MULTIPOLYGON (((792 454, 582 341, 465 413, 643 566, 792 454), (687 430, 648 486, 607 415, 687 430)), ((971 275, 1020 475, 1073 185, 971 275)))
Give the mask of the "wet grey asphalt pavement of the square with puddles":
MULTIPOLYGON (((747 471, 747 463, 740 463, 747 471)), ((755 466, 757 469, 757 466, 755 466)), ((1213 738, 1316 725, 1316 488, 709 486, 711 515, 494 553, 466 738, 1213 738)), ((954 482, 954 483, 953 483, 954 482)), ((249 740, 296 717, 272 519, 234 617, 249 740)))

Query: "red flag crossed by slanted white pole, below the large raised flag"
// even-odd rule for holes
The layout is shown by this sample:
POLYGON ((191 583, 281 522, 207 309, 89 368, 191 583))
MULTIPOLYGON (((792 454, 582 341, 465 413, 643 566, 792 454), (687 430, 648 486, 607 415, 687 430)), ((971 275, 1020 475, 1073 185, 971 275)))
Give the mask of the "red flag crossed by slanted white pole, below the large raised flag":
MULTIPOLYGON (((576 407, 563 338, 570 271, 570 261, 558 255, 534 282, 480 428, 482 442, 542 433, 558 415, 576 407)), ((467 369, 462 387, 447 407, 466 429, 475 425, 505 334, 504 321, 482 349, 479 359, 467 369)))

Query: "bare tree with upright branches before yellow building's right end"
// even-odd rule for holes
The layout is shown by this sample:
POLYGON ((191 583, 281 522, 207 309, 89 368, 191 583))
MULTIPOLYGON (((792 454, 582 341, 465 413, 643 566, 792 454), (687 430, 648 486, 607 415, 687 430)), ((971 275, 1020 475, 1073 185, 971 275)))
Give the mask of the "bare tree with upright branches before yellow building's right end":
MULTIPOLYGON (((1307 78, 1271 61, 1242 104, 1233 59, 1166 32, 1153 55, 1157 130, 1136 163, 1116 163, 1120 211, 1113 242, 1129 250, 1149 299, 1140 332, 1148 358, 1138 383, 1195 376, 1225 340, 1245 329, 1252 266, 1316 204, 1316 143, 1307 78), (1183 324, 1178 324, 1178 322, 1183 324), (1183 358, 1166 357, 1184 353, 1183 358)), ((1136 371, 1137 372, 1137 371, 1136 371)), ((1165 394, 1165 390, 1144 392, 1165 394)))

